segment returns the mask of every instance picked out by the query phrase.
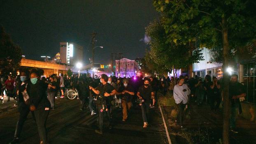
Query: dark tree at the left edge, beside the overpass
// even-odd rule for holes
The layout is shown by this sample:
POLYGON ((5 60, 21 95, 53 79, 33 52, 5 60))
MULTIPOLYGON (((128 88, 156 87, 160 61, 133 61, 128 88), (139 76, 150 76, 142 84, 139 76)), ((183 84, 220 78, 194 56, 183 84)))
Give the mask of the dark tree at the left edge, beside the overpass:
POLYGON ((14 72, 21 62, 21 49, 0 26, 0 72, 7 75, 14 72))

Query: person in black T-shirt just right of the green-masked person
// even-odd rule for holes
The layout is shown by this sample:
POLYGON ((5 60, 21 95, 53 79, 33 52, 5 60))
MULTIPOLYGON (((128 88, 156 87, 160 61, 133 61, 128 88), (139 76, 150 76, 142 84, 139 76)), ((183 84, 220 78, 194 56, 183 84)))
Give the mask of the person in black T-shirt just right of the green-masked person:
POLYGON ((47 88, 47 96, 48 100, 51 103, 51 109, 55 109, 55 94, 56 94, 56 87, 57 83, 54 81, 54 76, 50 76, 50 81, 48 83, 48 88, 47 88))

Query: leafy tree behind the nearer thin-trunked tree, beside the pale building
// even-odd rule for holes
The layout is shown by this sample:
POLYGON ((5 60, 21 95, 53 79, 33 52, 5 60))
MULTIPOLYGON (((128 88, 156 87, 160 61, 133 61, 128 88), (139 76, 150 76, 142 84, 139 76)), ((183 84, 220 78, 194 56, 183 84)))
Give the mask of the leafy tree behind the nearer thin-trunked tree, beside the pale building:
MULTIPOLYGON (((192 63, 198 63, 202 58, 202 49, 191 50, 191 43, 189 40, 181 43, 177 41, 169 42, 170 38, 164 28, 164 20, 153 21, 146 27, 146 35, 151 37, 149 42, 150 51, 148 53, 149 58, 147 61, 152 60, 156 63, 158 69, 166 72, 171 69, 177 70, 185 68, 192 63), (163 68, 162 68, 163 67, 163 68), (162 69, 160 69, 162 68, 162 69)), ((149 64, 152 64, 149 63, 149 64)), ((162 71, 162 72, 164 72, 162 71)))

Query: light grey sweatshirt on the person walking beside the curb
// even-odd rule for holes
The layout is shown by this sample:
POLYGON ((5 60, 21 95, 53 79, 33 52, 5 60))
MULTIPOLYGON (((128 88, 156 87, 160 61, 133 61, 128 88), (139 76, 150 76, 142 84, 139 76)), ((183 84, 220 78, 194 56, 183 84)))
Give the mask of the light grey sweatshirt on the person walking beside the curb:
POLYGON ((186 84, 182 84, 182 86, 179 86, 179 84, 176 84, 173 88, 173 98, 175 100, 176 104, 183 103, 186 104, 189 101, 188 95, 190 94, 190 89, 186 84), (183 91, 186 89, 186 91, 183 91))

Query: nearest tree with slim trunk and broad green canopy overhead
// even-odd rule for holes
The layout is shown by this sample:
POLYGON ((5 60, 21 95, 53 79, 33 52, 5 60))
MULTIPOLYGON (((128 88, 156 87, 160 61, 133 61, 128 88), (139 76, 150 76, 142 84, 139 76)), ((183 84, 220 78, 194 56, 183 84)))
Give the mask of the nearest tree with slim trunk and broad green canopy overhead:
POLYGON ((213 53, 219 54, 215 59, 223 61, 223 143, 228 144, 229 79, 226 69, 231 51, 254 42, 256 3, 251 0, 155 0, 154 5, 165 18, 168 42, 183 42, 181 36, 189 32, 189 37, 194 34, 200 39, 200 47, 213 49, 213 53))

